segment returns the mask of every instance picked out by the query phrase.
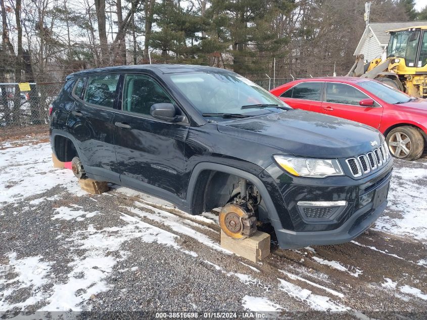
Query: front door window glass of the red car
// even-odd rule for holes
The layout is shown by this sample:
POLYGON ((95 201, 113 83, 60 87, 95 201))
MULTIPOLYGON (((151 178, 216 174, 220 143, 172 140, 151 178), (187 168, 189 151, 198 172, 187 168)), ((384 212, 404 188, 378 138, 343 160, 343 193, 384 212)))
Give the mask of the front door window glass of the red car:
POLYGON ((326 102, 359 106, 363 99, 371 98, 351 85, 333 82, 326 84, 326 102))

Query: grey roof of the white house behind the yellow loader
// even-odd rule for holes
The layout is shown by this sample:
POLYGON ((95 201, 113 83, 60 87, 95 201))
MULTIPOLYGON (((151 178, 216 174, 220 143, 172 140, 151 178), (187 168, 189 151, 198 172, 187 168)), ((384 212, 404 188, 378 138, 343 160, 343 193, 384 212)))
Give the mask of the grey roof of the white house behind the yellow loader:
POLYGON ((403 22, 372 22, 369 23, 368 28, 363 31, 362 37, 360 38, 359 43, 357 44, 354 55, 359 54, 360 49, 362 49, 363 40, 365 39, 366 32, 368 30, 372 31, 378 45, 386 47, 389 44, 390 34, 386 32, 389 30, 395 29, 404 29, 416 26, 427 25, 427 21, 403 21, 403 22))

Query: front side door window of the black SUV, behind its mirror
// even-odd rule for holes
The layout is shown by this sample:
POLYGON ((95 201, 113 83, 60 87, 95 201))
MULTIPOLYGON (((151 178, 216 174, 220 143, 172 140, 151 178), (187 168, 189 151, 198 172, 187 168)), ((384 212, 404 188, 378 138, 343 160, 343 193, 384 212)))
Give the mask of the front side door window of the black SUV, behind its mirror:
POLYGON ((156 103, 173 103, 165 90, 151 77, 128 74, 123 90, 123 110, 150 115, 151 106, 156 103))

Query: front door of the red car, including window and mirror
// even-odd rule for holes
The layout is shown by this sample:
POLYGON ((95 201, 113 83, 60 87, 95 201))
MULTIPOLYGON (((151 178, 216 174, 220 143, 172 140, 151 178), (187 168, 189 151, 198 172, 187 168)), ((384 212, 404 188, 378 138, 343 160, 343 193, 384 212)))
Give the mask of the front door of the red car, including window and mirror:
POLYGON ((383 107, 373 99, 373 106, 361 106, 359 103, 364 99, 372 98, 350 84, 326 82, 322 112, 379 129, 383 107))

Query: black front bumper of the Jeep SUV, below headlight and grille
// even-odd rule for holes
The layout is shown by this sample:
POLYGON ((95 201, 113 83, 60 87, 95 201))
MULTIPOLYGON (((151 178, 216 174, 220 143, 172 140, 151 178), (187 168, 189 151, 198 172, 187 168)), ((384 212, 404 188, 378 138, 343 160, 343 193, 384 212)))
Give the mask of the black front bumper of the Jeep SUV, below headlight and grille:
MULTIPOLYGON (((386 164, 365 179, 354 180, 348 177, 324 180, 287 180, 283 174, 274 177, 283 202, 277 216, 270 215, 280 248, 293 249, 309 245, 330 245, 349 242, 362 234, 383 213, 387 199, 375 201, 375 195, 382 192, 387 196, 391 180, 393 161, 386 164), (368 197, 367 197, 368 196, 368 197), (369 200, 366 201, 366 198, 369 200), (298 211, 298 201, 346 200, 348 206, 335 219, 327 222, 308 222, 298 211)), ((271 169, 271 168, 270 168, 271 169)), ((270 170, 270 174, 273 171, 270 170)), ((282 171, 283 172, 283 171, 282 171)), ((271 192, 271 189, 270 189, 271 192)), ((273 198, 274 199, 274 198, 273 198)))

